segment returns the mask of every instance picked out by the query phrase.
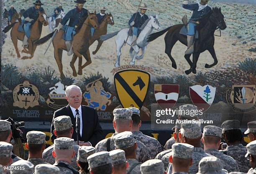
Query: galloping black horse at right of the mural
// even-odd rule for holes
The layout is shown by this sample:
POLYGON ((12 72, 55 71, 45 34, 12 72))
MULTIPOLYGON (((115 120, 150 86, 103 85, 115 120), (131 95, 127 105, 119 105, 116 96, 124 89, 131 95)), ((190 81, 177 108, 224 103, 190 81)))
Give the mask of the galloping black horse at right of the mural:
MULTIPOLYGON (((178 24, 174 26, 170 26, 169 28, 164 29, 163 31, 159 31, 151 34, 148 37, 148 42, 154 41, 159 36, 163 35, 166 31, 168 31, 164 37, 165 41, 165 53, 169 56, 172 61, 172 67, 177 69, 177 65, 175 60, 173 59, 171 52, 173 46, 177 41, 180 41, 182 44, 187 46, 187 36, 184 36, 179 33, 183 24, 178 24)), ((226 24, 224 21, 224 15, 221 13, 220 8, 213 8, 212 13, 206 16, 200 24, 197 26, 197 30, 199 31, 199 39, 195 40, 195 50, 193 53, 193 61, 190 60, 191 54, 186 54, 184 57, 190 65, 190 69, 186 70, 186 74, 190 74, 193 72, 196 74, 197 61, 202 52, 208 50, 212 55, 214 62, 212 64, 205 64, 205 68, 211 68, 218 63, 218 59, 214 50, 214 32, 218 28, 224 30, 226 28, 226 24)))

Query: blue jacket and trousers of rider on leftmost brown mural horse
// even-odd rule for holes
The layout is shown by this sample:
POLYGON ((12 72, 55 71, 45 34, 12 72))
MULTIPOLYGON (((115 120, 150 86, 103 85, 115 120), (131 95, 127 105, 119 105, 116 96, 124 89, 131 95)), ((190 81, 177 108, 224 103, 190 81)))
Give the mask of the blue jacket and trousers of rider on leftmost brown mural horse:
POLYGON ((28 10, 26 10, 24 13, 23 13, 23 17, 24 19, 29 17, 30 19, 33 19, 31 22, 28 22, 26 20, 22 20, 22 23, 25 24, 24 26, 24 31, 25 31, 25 34, 26 36, 29 38, 30 37, 30 28, 31 26, 33 25, 33 23, 36 22, 39 14, 38 12, 42 12, 44 11, 44 8, 40 7, 39 9, 36 9, 36 7, 31 7, 31 8, 28 8, 28 10))

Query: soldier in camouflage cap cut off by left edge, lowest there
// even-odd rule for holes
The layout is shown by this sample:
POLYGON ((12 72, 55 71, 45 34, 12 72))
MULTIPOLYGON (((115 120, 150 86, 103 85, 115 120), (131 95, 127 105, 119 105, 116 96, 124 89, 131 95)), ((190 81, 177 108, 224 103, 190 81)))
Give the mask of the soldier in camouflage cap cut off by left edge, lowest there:
MULTIPOLYGON (((0 164, 4 167, 8 167, 12 164, 12 150, 13 145, 0 141, 0 164)), ((5 170, 4 174, 10 174, 10 170, 5 170)))

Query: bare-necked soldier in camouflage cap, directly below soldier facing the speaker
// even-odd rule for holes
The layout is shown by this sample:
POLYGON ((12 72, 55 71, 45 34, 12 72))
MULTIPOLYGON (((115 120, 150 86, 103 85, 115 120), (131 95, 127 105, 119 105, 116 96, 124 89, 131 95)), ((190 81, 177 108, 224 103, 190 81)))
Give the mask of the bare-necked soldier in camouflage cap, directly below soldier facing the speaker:
POLYGON ((71 166, 71 160, 75 156, 74 139, 60 137, 54 140, 54 151, 52 155, 55 158, 54 166, 59 167, 61 174, 79 174, 79 172, 71 166))

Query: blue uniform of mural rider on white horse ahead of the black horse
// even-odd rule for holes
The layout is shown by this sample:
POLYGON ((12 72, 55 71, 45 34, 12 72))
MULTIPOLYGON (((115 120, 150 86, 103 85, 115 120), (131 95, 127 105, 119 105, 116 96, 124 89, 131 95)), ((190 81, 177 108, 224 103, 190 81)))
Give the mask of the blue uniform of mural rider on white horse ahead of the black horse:
MULTIPOLYGON (((128 24, 129 26, 131 26, 131 22, 134 21, 136 13, 134 13, 131 17, 131 19, 129 20, 128 24)), ((141 15, 141 13, 137 13, 136 15, 136 19, 134 21, 134 25, 133 25, 133 35, 138 36, 140 31, 141 26, 143 25, 143 23, 148 19, 148 16, 146 14, 141 15)))

